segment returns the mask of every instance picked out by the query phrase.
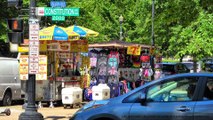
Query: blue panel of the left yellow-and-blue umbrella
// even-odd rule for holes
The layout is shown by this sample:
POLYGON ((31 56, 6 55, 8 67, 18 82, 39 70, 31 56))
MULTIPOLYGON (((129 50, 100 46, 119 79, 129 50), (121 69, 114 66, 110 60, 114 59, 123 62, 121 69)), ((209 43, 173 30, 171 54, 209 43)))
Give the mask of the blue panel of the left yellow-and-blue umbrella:
POLYGON ((63 29, 55 27, 53 32, 53 40, 68 40, 68 34, 63 29))

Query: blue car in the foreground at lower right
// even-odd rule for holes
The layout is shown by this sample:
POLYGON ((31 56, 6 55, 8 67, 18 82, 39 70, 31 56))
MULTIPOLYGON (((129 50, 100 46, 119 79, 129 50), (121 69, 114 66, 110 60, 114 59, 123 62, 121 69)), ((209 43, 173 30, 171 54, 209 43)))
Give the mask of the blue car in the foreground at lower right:
POLYGON ((213 120, 213 74, 183 73, 91 101, 70 120, 213 120))

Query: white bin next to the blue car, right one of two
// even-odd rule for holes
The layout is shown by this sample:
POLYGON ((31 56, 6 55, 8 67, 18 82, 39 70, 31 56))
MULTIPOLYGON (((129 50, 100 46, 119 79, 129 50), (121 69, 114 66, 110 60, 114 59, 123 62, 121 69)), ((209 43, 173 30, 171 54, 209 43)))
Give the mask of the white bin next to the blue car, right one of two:
POLYGON ((92 87, 93 100, 105 100, 110 98, 110 88, 107 84, 99 84, 92 87))

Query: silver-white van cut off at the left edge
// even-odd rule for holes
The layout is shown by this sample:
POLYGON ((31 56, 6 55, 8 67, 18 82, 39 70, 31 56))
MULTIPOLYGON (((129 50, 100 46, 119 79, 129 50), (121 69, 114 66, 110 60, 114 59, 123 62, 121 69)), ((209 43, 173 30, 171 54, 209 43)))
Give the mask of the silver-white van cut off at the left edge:
POLYGON ((21 99, 18 59, 0 57, 0 101, 8 106, 21 99))

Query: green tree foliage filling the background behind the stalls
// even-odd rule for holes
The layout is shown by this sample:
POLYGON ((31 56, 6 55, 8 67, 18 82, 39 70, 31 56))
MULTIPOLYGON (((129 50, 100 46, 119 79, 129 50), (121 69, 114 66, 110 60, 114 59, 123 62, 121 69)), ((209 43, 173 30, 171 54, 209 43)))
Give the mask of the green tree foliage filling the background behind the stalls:
MULTIPOLYGON (((24 14, 8 8, 6 0, 0 0, 0 40, 6 40, 6 18, 24 14)), ((30 0, 24 0, 23 8, 29 8, 30 0)), ((37 0, 37 6, 50 7, 50 0, 37 0)), ((74 0, 66 1, 67 7, 80 8, 79 17, 66 17, 64 22, 54 22, 51 17, 41 17, 41 28, 53 24, 80 25, 100 33, 89 42, 119 39, 119 16, 124 17, 124 40, 151 44, 152 0, 74 0)), ((182 58, 191 55, 201 59, 212 56, 213 49, 213 1, 211 0, 155 0, 155 45, 167 56, 182 58)), ((25 13, 28 14, 28 13, 25 13)), ((26 25, 28 18, 25 17, 26 25)), ((28 28, 26 27, 26 32, 28 28)))

